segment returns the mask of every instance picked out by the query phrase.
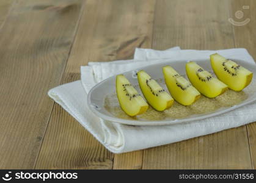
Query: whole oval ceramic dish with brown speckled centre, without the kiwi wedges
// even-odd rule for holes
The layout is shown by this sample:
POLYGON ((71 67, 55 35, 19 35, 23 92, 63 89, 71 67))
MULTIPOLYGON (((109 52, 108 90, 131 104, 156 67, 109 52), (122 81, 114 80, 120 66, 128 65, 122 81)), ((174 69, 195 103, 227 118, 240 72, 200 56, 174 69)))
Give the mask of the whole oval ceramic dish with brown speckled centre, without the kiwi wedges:
MULTIPOLYGON (((193 61, 197 62, 200 66, 205 68, 205 70, 213 73, 210 60, 193 61)), ((247 63, 243 60, 234 61, 239 65, 244 66, 244 68, 249 69, 254 73, 254 77, 256 76, 255 64, 247 63)), ((134 85, 139 93, 141 93, 141 90, 139 89, 136 76, 136 73, 139 70, 144 70, 150 74, 150 76, 153 79, 156 79, 156 81, 158 81, 158 83, 168 92, 162 71, 163 66, 166 65, 172 66, 178 73, 186 77, 186 60, 156 63, 123 74, 131 84, 134 85)), ((256 100, 256 81, 254 77, 251 84, 244 88, 243 91, 236 92, 228 90, 224 94, 213 99, 201 96, 198 101, 187 107, 174 102, 174 105, 170 107, 170 109, 164 110, 164 112, 157 112, 150 107, 147 112, 136 117, 129 117, 120 108, 115 93, 115 76, 109 77, 95 85, 89 91, 87 101, 92 112, 104 120, 136 126, 158 126, 182 123, 185 121, 202 120, 204 118, 214 117, 254 102, 256 100)))

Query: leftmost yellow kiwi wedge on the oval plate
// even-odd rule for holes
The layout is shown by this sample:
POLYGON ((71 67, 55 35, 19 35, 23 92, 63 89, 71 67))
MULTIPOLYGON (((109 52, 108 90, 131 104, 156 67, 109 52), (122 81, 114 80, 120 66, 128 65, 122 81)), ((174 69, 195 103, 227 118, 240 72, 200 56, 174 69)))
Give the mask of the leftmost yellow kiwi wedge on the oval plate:
POLYGON ((115 88, 120 107, 127 115, 133 117, 146 112, 148 109, 147 102, 123 74, 116 77, 115 88))

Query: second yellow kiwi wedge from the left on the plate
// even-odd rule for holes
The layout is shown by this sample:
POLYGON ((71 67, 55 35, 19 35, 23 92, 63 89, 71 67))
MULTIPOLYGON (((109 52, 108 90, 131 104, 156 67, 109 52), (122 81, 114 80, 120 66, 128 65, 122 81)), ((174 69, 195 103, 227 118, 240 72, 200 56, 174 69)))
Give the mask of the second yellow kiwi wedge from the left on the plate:
POLYGON ((145 99, 155 110, 163 111, 172 106, 174 99, 145 71, 139 71, 137 79, 145 99))

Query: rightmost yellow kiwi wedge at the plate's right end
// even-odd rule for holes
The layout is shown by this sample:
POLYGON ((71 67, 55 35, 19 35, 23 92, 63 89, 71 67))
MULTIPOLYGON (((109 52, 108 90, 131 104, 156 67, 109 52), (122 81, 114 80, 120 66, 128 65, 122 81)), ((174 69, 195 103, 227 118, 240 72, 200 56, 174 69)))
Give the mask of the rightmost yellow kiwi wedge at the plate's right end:
POLYGON ((219 80, 234 91, 241 91, 252 81, 252 72, 219 54, 210 56, 211 67, 219 80))

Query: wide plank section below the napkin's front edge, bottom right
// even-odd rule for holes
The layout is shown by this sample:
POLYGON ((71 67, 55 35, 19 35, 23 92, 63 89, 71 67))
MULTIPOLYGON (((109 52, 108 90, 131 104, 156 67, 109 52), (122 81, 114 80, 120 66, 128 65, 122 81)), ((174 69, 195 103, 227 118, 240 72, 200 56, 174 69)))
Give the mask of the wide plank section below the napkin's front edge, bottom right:
POLYGON ((251 168, 246 127, 146 149, 143 169, 251 168), (246 152, 244 152, 246 150, 246 152))

